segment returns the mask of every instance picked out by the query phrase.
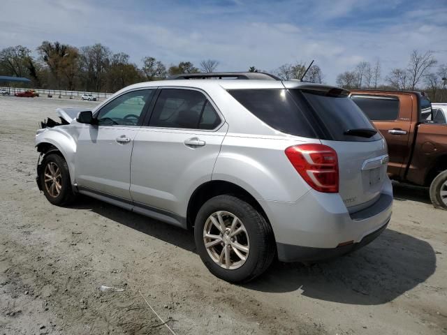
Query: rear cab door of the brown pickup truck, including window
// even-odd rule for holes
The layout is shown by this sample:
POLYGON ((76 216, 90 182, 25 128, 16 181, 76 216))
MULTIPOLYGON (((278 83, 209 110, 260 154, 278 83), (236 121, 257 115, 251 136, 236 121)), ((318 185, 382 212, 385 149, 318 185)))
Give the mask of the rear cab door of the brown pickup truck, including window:
POLYGON ((408 96, 352 94, 351 99, 374 122, 388 144, 388 172, 392 177, 404 174, 411 146, 412 103, 408 96))

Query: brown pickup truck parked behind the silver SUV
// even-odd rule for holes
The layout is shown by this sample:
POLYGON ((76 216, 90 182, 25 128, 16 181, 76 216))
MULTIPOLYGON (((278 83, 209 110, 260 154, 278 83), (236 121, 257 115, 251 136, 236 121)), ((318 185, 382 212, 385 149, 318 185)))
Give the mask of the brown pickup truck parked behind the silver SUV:
POLYGON ((353 90, 353 101, 388 144, 391 179, 430 187, 434 207, 447 210, 447 125, 431 121, 420 92, 353 90))

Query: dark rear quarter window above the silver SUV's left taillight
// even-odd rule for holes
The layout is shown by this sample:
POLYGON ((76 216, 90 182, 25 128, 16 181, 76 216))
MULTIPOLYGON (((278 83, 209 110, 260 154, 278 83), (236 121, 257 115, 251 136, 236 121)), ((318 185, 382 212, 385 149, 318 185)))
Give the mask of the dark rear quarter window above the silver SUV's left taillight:
POLYGON ((286 89, 234 89, 228 92, 272 128, 291 135, 317 137, 302 109, 286 89))

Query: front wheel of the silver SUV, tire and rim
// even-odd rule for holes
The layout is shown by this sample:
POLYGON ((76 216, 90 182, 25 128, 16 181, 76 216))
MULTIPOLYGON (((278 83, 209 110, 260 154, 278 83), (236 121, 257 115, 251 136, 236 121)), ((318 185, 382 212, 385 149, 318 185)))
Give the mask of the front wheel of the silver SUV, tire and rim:
POLYGON ((76 195, 71 186, 70 172, 64 158, 58 154, 45 155, 41 163, 39 177, 43 194, 49 202, 57 206, 66 206, 74 202, 76 195), (48 180, 50 175, 55 176, 53 181, 48 180), (54 188, 52 188, 53 184, 54 188))

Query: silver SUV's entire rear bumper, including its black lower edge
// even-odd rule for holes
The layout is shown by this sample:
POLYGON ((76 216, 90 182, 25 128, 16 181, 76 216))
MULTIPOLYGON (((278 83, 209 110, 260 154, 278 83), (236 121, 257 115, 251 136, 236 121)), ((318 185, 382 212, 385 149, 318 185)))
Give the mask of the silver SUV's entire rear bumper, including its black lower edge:
POLYGON ((327 258, 325 251, 343 254, 376 237, 378 234, 374 232, 390 221, 393 188, 387 179, 376 202, 353 214, 339 194, 314 190, 296 202, 259 200, 259 203, 272 224, 279 260, 316 260, 327 258), (292 247, 297 248, 291 251, 292 247))

